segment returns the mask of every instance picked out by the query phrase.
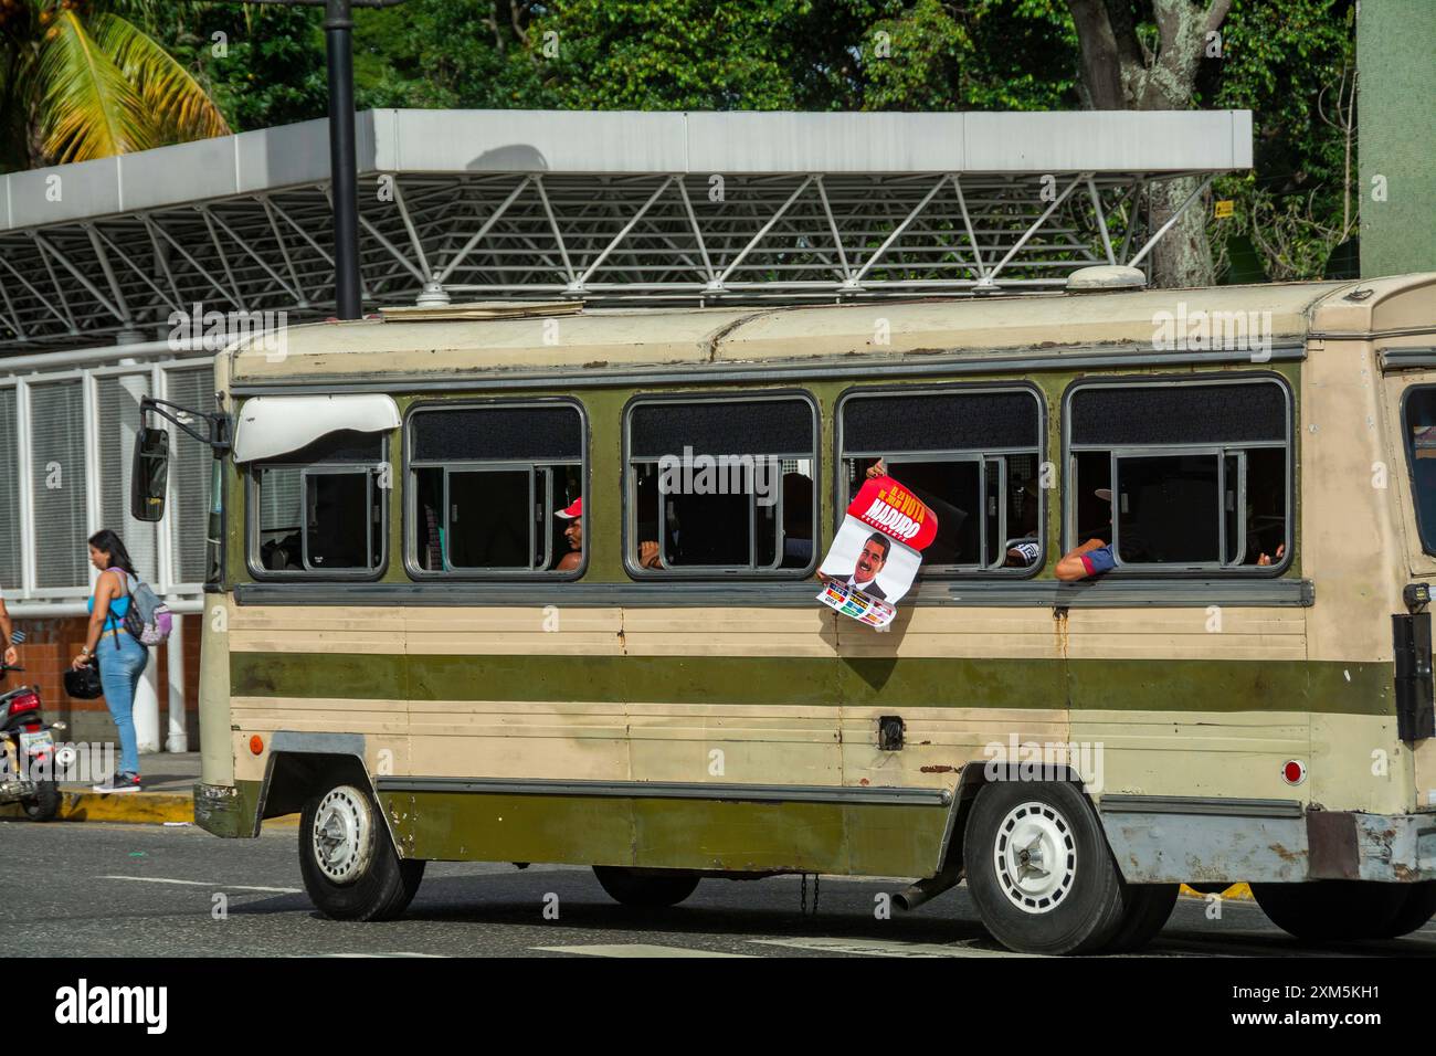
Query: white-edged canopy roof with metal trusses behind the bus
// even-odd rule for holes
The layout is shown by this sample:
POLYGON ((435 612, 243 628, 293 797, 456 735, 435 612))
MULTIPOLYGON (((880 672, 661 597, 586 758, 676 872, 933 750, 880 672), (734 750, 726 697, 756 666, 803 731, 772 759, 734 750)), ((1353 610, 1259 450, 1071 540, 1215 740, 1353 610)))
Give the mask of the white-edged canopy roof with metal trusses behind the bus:
MULTIPOLYGON (((794 303, 1147 261, 1143 188, 1251 167, 1251 114, 358 116, 366 307, 794 303)), ((1193 195, 1190 201, 1195 201, 1193 195)), ((0 355, 171 313, 333 309, 327 122, 0 177, 0 355)))

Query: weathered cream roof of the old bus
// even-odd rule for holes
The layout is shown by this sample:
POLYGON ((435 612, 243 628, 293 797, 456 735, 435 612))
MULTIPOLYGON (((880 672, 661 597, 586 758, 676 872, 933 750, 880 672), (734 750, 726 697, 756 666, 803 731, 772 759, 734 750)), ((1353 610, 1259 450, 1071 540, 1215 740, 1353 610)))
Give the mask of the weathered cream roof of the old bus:
POLYGON ((1364 283, 1275 283, 796 307, 574 312, 572 306, 553 305, 455 305, 444 310, 391 312, 358 322, 294 326, 283 332, 277 346, 251 338, 231 346, 230 379, 248 385, 327 378, 383 381, 388 375, 444 378, 474 371, 561 375, 844 355, 981 355, 1055 346, 1110 346, 1116 353, 1137 356, 1153 348, 1163 313, 1176 316, 1179 322, 1190 320, 1196 312, 1248 313, 1265 336, 1291 343, 1302 341, 1308 330, 1320 329, 1314 326, 1315 307, 1323 302, 1338 302, 1338 296, 1350 287, 1373 290, 1373 296, 1338 303, 1338 310, 1330 313, 1337 320, 1334 329, 1354 333, 1371 328, 1376 306, 1383 300, 1433 284, 1436 274, 1364 283), (485 315, 494 318, 472 318, 485 315))

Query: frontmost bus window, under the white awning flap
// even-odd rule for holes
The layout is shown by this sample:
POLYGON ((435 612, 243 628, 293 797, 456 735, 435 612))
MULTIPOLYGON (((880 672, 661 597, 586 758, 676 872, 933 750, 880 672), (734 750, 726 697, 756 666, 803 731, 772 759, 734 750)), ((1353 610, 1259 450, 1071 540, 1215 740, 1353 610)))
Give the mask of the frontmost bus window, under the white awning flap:
POLYGON ((383 568, 382 435, 335 432, 251 473, 257 569, 313 576, 383 568))

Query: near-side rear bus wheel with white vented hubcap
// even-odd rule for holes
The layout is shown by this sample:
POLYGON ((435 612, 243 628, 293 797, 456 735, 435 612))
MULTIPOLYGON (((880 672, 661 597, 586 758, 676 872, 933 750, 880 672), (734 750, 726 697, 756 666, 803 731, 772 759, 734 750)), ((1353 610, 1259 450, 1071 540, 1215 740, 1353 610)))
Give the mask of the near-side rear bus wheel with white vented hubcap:
POLYGON ((962 858, 982 924, 1008 950, 1096 953, 1122 924, 1122 876, 1076 784, 985 786, 968 815, 962 858))

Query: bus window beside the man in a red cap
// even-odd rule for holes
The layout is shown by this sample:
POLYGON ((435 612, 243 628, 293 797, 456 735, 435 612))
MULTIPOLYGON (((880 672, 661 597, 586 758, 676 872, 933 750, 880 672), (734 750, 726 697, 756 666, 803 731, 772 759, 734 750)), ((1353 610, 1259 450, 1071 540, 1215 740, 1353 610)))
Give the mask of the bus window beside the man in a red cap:
POLYGON ((557 570, 569 542, 556 513, 583 494, 583 434, 569 402, 418 408, 409 417, 411 570, 557 570))

